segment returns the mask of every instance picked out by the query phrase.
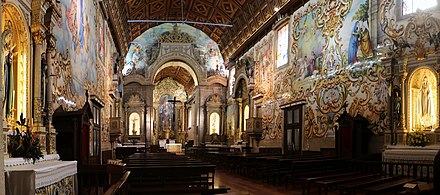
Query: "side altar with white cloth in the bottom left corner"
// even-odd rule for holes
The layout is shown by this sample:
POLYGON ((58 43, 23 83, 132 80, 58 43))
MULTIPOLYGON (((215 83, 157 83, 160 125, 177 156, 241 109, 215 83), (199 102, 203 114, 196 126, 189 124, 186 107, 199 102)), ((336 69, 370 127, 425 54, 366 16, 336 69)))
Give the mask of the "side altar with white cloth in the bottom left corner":
POLYGON ((6 194, 77 194, 77 161, 46 155, 35 164, 23 158, 5 159, 6 194))

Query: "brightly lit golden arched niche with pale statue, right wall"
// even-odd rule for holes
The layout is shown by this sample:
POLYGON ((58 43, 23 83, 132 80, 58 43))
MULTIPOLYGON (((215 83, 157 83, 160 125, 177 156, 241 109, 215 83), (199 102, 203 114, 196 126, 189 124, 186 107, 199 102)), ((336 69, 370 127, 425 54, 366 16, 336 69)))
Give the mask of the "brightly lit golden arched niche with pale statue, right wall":
POLYGON ((438 127, 437 77, 429 68, 421 68, 409 81, 410 130, 434 130, 438 127))

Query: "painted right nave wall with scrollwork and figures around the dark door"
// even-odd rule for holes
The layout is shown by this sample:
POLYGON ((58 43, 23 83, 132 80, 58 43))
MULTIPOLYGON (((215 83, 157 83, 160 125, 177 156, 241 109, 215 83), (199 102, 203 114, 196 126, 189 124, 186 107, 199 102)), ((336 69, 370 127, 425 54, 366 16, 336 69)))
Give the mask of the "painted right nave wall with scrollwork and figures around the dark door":
POLYGON ((262 146, 282 143, 280 105, 298 101, 305 102, 306 138, 334 136, 345 110, 367 118, 373 132, 384 131, 388 84, 373 53, 369 5, 368 0, 305 4, 290 18, 288 66, 275 68, 273 31, 243 55, 255 59, 255 92, 263 95, 262 146))

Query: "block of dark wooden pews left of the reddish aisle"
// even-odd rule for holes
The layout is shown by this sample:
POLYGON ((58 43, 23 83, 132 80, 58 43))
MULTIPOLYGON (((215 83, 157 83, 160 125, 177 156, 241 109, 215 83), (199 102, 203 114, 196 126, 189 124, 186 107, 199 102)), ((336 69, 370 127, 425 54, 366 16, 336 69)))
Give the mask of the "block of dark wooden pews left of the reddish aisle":
POLYGON ((129 194, 215 194, 228 187, 214 187, 215 165, 184 156, 134 154, 127 158, 129 194))

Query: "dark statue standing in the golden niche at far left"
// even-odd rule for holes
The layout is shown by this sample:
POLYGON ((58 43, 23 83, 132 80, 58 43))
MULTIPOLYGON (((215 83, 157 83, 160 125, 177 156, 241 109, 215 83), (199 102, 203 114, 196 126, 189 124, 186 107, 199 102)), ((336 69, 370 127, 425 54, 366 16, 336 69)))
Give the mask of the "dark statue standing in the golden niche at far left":
POLYGON ((15 45, 12 43, 14 33, 10 29, 6 29, 2 33, 4 69, 3 69, 3 113, 8 117, 11 113, 14 102, 14 78, 13 78, 13 50, 15 45))

